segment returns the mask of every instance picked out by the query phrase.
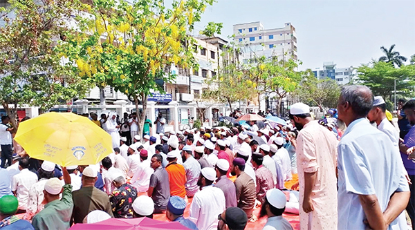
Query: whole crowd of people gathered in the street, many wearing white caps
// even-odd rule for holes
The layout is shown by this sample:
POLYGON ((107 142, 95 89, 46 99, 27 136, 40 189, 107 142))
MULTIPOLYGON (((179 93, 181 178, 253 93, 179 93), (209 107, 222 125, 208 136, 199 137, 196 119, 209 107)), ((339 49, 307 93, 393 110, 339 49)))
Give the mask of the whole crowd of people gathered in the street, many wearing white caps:
POLYGON ((407 128, 400 133, 384 99, 365 86, 345 86, 335 115, 317 121, 296 103, 288 124, 178 132, 165 132, 160 115, 158 134, 145 128, 142 137, 135 113, 120 122, 115 113, 102 122, 91 114, 113 137, 113 153, 67 167, 24 151, 3 157, 13 144, 2 117, 0 229, 69 229, 154 214, 189 229, 246 229, 259 218, 267 218, 266 230, 293 229, 284 212, 299 214, 301 229, 407 229, 405 209, 414 227, 415 99, 400 101, 399 128, 407 128))

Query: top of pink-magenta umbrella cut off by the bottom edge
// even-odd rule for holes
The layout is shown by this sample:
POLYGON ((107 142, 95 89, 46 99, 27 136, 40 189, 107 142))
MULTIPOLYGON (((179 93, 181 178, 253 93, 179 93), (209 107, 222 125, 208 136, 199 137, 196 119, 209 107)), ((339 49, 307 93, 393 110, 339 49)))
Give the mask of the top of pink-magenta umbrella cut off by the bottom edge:
POLYGON ((150 218, 111 218, 93 224, 75 224, 70 230, 189 230, 179 222, 163 222, 150 218))

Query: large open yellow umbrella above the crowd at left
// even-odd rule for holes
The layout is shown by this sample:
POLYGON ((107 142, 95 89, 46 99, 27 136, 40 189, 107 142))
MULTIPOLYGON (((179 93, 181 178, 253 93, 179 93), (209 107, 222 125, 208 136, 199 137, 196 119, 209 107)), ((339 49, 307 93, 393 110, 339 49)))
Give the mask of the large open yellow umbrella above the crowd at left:
POLYGON ((113 151, 111 135, 73 113, 45 113, 21 122, 15 140, 30 157, 61 166, 97 164, 113 151))

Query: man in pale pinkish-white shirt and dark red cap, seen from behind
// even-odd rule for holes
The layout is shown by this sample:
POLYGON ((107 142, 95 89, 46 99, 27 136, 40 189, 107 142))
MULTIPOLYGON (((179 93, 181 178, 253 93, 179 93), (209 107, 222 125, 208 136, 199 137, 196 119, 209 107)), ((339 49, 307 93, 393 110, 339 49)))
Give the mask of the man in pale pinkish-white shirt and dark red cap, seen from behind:
POLYGON ((149 191, 150 177, 154 173, 154 170, 151 169, 151 162, 148 159, 147 151, 143 149, 140 152, 140 164, 134 173, 133 178, 131 178, 130 183, 132 186, 136 187, 139 193, 149 191))

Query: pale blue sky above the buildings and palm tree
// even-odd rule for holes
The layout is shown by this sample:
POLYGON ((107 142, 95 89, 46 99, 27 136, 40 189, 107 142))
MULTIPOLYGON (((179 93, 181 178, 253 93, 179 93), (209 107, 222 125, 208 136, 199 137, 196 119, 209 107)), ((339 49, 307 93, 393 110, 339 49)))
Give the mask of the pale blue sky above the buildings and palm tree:
POLYGON ((380 46, 392 44, 408 59, 415 54, 414 0, 217 0, 196 29, 209 21, 223 23, 219 36, 224 39, 237 23, 261 21, 268 29, 291 22, 303 62, 299 70, 322 68, 324 61, 334 61, 338 68, 368 64, 382 56, 380 46))

